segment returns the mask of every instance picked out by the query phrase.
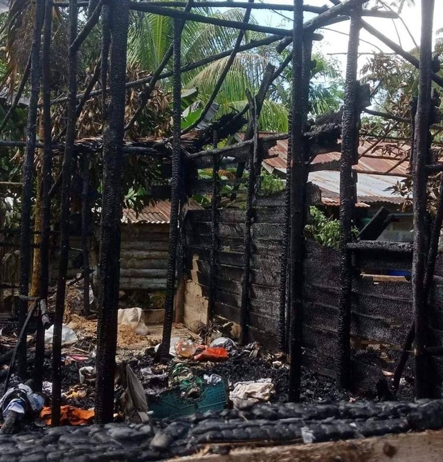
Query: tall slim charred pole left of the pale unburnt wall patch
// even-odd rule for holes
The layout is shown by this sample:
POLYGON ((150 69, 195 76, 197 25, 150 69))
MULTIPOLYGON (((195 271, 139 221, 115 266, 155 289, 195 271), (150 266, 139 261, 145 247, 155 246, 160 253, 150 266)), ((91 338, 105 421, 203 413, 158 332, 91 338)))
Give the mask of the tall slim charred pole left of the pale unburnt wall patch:
POLYGON ((174 283, 177 259, 177 244, 179 236, 180 208, 180 165, 181 165, 181 20, 174 18, 174 53, 172 81, 172 176, 171 176, 171 216, 168 249, 168 272, 166 273, 165 320, 163 322, 163 338, 161 340, 160 356, 165 358, 171 342, 172 320, 174 318, 174 283))

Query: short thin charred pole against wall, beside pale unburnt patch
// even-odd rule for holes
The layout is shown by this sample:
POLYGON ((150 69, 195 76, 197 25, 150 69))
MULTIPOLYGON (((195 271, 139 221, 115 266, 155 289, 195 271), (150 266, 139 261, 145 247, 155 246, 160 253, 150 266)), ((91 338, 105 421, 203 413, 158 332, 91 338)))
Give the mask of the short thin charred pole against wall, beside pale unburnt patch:
MULTIPOLYGON (((217 133, 214 133, 214 149, 217 149, 217 133)), ((211 201, 212 222, 210 241, 210 268, 209 268, 209 299, 208 299, 208 322, 213 319, 214 304, 217 293, 217 250, 218 250, 218 205, 219 205, 219 155, 213 156, 213 198, 211 201)))

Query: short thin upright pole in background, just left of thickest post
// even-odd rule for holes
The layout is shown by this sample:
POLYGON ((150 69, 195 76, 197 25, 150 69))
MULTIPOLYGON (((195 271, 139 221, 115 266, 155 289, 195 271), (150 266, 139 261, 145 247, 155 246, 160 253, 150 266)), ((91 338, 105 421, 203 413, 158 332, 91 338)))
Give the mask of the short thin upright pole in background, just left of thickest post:
POLYGON ((89 306, 89 158, 87 154, 82 155, 82 255, 83 255, 83 313, 90 314, 89 306))

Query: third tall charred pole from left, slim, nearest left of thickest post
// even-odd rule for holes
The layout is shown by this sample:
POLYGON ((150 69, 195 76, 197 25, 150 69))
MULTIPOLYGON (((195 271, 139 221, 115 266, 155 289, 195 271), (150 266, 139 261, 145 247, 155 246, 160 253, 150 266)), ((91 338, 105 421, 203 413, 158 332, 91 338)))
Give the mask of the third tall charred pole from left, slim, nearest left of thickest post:
MULTIPOLYGON (((77 0, 69 2, 69 42, 77 36, 78 7, 77 0)), ((64 296, 66 293, 66 273, 69 258, 69 215, 71 209, 71 175, 75 142, 75 103, 77 95, 77 52, 69 49, 68 64, 68 111, 66 122, 66 144, 62 164, 62 212, 60 217, 60 257, 55 296, 54 336, 53 336, 53 403, 52 425, 60 425, 60 404, 62 400, 62 324, 64 314, 64 296)))

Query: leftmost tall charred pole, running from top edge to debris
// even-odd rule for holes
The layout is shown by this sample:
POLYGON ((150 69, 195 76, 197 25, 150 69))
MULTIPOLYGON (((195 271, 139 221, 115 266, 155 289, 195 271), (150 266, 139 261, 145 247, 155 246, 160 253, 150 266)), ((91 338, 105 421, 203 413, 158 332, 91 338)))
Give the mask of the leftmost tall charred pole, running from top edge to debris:
POLYGON ((26 316, 28 315, 28 291, 31 262, 31 207, 33 196, 34 157, 37 130, 37 104, 40 93, 42 63, 40 61, 41 33, 44 22, 44 0, 35 1, 35 24, 30 64, 30 101, 26 122, 26 147, 22 167, 23 189, 21 194, 21 232, 20 232, 20 283, 19 283, 19 332, 24 329, 17 351, 18 373, 26 376, 26 316))

